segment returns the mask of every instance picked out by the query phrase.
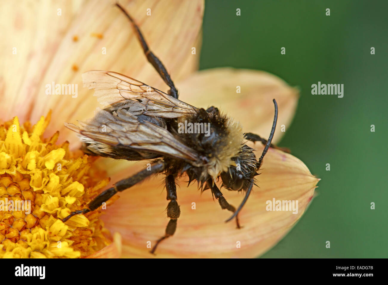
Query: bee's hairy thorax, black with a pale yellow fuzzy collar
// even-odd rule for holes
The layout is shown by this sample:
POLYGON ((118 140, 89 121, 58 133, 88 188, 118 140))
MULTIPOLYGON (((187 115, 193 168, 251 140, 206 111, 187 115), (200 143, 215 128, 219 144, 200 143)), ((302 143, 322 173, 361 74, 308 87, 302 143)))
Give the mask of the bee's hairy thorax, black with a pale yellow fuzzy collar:
POLYGON ((197 114, 173 119, 168 128, 178 140, 201 154, 200 161, 182 166, 191 180, 204 182, 209 176, 215 179, 220 172, 236 165, 233 158, 241 152, 244 142, 242 128, 217 108, 199 109, 197 114))

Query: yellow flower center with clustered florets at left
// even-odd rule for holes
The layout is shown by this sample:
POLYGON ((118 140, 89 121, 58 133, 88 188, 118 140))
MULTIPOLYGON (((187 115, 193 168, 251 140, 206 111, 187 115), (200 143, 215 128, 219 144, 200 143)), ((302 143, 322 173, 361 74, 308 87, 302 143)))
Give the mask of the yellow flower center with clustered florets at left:
POLYGON ((94 157, 41 139, 50 120, 31 128, 14 117, 0 126, 0 258, 85 257, 111 243, 101 211, 76 215, 109 178, 94 157))

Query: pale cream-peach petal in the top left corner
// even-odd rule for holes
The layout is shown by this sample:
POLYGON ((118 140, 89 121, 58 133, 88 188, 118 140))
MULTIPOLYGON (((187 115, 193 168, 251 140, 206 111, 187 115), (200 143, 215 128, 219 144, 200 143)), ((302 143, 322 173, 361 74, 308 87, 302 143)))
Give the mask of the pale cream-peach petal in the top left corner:
POLYGON ((28 119, 40 81, 73 16, 70 1, 1 3, 0 99, 7 108, 2 108, 0 119, 28 119))

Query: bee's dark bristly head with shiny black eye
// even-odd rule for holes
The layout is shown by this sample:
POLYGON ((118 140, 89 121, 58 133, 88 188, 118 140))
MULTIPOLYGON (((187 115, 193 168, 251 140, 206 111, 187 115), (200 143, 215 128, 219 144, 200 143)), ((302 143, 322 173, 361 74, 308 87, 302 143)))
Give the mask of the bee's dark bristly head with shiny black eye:
POLYGON ((232 160, 236 166, 230 166, 228 171, 221 173, 223 187, 232 191, 247 190, 253 177, 258 170, 258 162, 251 147, 243 145, 241 152, 232 160))

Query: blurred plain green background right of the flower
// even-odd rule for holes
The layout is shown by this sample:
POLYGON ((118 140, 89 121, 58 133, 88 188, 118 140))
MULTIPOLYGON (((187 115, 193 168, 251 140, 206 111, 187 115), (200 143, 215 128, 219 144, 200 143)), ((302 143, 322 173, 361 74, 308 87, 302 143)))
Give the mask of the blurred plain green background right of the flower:
POLYGON ((279 145, 322 178, 301 220, 262 257, 388 257, 387 11, 385 0, 205 3, 200 69, 264 70, 298 86, 279 145), (312 95, 318 81, 344 84, 344 97, 312 95))

